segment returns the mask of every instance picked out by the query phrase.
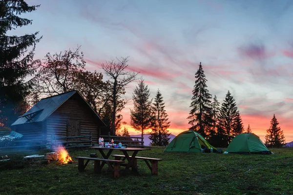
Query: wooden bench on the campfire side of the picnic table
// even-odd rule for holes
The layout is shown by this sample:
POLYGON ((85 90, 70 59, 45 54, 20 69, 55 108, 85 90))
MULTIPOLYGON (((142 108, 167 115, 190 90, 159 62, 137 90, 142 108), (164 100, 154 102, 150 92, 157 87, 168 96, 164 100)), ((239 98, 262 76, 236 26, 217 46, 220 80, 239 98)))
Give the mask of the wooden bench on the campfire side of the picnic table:
POLYGON ((120 176, 120 164, 121 163, 125 163, 125 161, 123 160, 110 160, 110 159, 104 159, 104 158, 92 158, 92 157, 82 157, 82 156, 78 156, 75 157, 78 159, 78 170, 80 172, 84 171, 86 165, 88 164, 88 162, 90 160, 94 160, 94 172, 95 173, 101 173, 102 168, 104 166, 104 164, 106 163, 109 168, 111 169, 111 171, 113 171, 113 176, 114 178, 117 178, 120 176), (84 160, 86 160, 85 164, 84 164, 84 160), (100 162, 104 162, 104 163, 100 163, 100 162), (113 165, 112 165, 113 164, 113 165))

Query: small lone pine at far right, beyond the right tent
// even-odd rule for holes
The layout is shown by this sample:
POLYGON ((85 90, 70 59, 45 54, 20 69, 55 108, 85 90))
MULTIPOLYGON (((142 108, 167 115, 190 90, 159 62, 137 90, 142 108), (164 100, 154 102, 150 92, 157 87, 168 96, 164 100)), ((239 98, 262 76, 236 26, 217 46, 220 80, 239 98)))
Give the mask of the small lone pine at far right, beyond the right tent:
POLYGON ((285 136, 278 125, 279 122, 275 115, 273 115, 270 129, 267 130, 267 135, 265 137, 265 143, 276 148, 280 148, 285 144, 285 136))

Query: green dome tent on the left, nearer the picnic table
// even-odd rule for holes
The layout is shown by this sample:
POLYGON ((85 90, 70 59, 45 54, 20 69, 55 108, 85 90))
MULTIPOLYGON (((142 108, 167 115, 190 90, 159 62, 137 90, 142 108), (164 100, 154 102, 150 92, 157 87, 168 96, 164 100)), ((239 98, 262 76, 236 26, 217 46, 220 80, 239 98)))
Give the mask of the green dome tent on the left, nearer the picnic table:
POLYGON ((164 152, 195 152, 201 153, 201 146, 207 149, 212 148, 214 151, 217 150, 211 146, 209 142, 202 137, 200 134, 194 131, 185 131, 176 136, 167 146, 164 152))

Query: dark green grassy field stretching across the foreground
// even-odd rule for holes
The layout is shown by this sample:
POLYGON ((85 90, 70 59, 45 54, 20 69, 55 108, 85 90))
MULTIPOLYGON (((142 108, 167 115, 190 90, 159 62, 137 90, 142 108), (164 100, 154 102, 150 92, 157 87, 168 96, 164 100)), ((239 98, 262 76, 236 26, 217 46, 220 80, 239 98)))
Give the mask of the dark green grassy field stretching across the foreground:
MULTIPOLYGON (((140 152, 139 156, 163 159, 159 162, 158 176, 151 176, 143 161, 138 161, 138 176, 130 173, 118 179, 112 178, 106 166, 101 175, 94 174, 93 162, 82 173, 78 172, 77 164, 36 163, 1 171, 0 195, 293 194, 292 148, 272 149, 274 155, 163 153, 164 148, 151 149, 140 152)), ((95 152, 98 151, 69 150, 72 157, 95 152)))

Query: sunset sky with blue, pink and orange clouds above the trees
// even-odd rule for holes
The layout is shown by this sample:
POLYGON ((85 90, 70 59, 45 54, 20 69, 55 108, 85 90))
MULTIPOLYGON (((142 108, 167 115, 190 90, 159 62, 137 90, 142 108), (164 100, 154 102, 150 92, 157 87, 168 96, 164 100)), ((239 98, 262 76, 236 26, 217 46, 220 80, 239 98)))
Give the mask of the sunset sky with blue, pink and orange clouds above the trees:
MULTIPOLYGON (((212 96, 222 104, 228 90, 244 127, 263 141, 275 114, 286 142, 293 141, 292 0, 26 0, 41 4, 22 17, 33 24, 14 33, 42 35, 35 59, 81 45, 86 69, 129 56, 151 98, 159 89, 171 122, 186 131, 194 75, 201 62, 212 96)), ((126 89, 122 114, 136 82, 126 89)), ((138 133, 137 133, 138 134, 138 133)))

